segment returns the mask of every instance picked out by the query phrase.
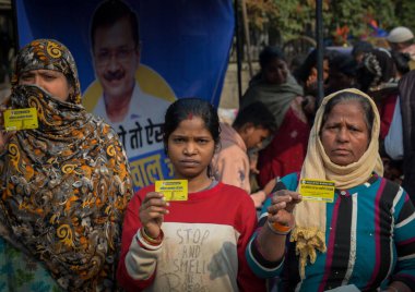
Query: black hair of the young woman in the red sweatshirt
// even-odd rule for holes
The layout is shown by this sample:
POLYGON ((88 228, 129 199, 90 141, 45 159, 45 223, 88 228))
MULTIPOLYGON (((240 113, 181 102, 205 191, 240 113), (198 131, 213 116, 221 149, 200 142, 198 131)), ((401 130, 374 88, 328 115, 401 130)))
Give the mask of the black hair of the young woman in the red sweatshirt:
POLYGON ((189 117, 199 117, 211 133, 215 146, 220 145, 221 125, 217 110, 209 101, 198 97, 180 98, 173 102, 165 114, 163 126, 163 142, 167 149, 168 137, 179 126, 180 122, 189 117))

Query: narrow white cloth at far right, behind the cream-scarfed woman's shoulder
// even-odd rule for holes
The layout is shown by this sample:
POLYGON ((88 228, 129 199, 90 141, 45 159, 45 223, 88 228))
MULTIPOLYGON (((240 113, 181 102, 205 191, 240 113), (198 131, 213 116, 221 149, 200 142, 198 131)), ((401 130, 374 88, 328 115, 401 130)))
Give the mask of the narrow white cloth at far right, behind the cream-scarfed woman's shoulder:
POLYGON ((391 127, 384 137, 384 150, 393 160, 403 158, 402 113, 399 97, 393 111, 391 127))

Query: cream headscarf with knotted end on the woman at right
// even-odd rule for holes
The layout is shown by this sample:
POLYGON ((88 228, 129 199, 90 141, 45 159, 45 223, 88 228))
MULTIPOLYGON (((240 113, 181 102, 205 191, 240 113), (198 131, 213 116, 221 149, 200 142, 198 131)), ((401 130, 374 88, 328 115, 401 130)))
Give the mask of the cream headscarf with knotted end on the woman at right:
MULTIPOLYGON (((375 171, 383 175, 383 165, 379 156, 379 129, 380 118, 374 100, 363 92, 354 88, 340 90, 327 96, 316 113, 315 124, 310 132, 308 148, 303 163, 301 179, 317 179, 334 181, 335 187, 346 190, 367 182, 375 171), (358 161, 348 166, 333 163, 325 154, 320 139, 320 130, 323 126, 322 119, 327 104, 340 94, 354 94, 367 99, 374 110, 375 119, 371 129, 371 139, 365 154, 358 161)), ((325 253, 325 204, 320 202, 304 200, 294 209, 296 227, 292 232, 290 241, 296 242, 296 253, 299 255, 299 273, 305 278, 305 267, 309 260, 315 263, 317 251, 325 253)))

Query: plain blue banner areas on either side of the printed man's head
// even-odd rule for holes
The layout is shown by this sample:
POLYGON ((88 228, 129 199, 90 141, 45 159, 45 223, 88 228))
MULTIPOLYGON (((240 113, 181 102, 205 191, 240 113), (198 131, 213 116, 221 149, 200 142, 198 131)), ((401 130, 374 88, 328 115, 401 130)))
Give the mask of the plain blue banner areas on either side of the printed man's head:
MULTIPOLYGON (((141 62, 158 72, 178 98, 218 105, 234 35, 230 0, 126 1, 139 14, 141 62)), ((73 53, 82 89, 95 80, 90 21, 99 1, 15 0, 20 46, 60 40, 73 53)))

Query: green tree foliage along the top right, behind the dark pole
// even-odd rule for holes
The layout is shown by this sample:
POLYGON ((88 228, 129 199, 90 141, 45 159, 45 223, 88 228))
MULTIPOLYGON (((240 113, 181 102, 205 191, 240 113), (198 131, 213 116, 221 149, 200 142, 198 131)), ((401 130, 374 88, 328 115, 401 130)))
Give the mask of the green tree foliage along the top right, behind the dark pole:
MULTIPOLYGON (((250 27, 278 31, 286 41, 315 33, 316 0, 246 0, 250 27)), ((347 26, 354 38, 369 36, 376 24, 386 31, 404 25, 415 31, 413 0, 323 0, 325 38, 347 26)))

